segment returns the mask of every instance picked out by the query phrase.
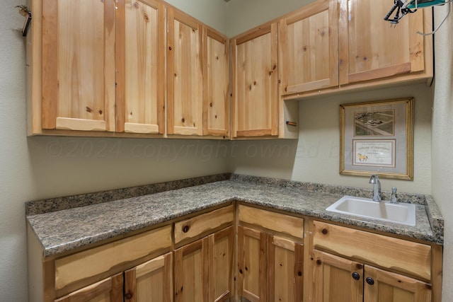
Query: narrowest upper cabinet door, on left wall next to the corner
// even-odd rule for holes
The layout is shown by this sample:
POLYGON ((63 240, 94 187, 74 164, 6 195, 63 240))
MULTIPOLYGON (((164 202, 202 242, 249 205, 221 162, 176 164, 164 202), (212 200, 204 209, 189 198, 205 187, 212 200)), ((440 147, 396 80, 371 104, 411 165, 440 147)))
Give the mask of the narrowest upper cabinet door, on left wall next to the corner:
POLYGON ((229 136, 229 39, 203 27, 203 135, 229 136))

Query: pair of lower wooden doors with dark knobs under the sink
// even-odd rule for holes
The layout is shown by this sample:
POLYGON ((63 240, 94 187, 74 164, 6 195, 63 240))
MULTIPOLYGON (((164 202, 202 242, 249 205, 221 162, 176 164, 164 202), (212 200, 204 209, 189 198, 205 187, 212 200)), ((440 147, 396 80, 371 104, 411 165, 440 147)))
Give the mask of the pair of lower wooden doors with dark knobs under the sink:
POLYGON ((313 284, 313 301, 431 301, 430 284, 318 250, 314 250, 313 284))

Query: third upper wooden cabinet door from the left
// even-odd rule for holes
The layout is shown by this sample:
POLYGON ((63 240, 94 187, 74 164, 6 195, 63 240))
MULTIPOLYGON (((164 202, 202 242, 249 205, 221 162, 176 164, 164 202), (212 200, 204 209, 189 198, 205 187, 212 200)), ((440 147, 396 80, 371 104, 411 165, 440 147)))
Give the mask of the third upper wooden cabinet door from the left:
POLYGON ((176 8, 167 12, 167 133, 202 135, 202 26, 176 8))

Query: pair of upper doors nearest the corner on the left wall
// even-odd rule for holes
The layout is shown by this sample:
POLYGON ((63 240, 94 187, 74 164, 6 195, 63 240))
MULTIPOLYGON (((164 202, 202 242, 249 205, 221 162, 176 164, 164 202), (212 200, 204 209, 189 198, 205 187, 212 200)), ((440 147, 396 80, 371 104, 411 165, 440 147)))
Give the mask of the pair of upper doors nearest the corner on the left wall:
POLYGON ((229 39, 168 7, 167 133, 229 136, 229 39))

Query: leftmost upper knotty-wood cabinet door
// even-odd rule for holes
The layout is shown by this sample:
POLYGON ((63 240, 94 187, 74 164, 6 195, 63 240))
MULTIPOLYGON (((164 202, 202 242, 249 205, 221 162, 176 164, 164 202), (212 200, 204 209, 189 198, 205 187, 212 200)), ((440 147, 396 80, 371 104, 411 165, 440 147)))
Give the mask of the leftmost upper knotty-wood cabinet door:
POLYGON ((42 1, 42 128, 115 131, 115 0, 42 1))

